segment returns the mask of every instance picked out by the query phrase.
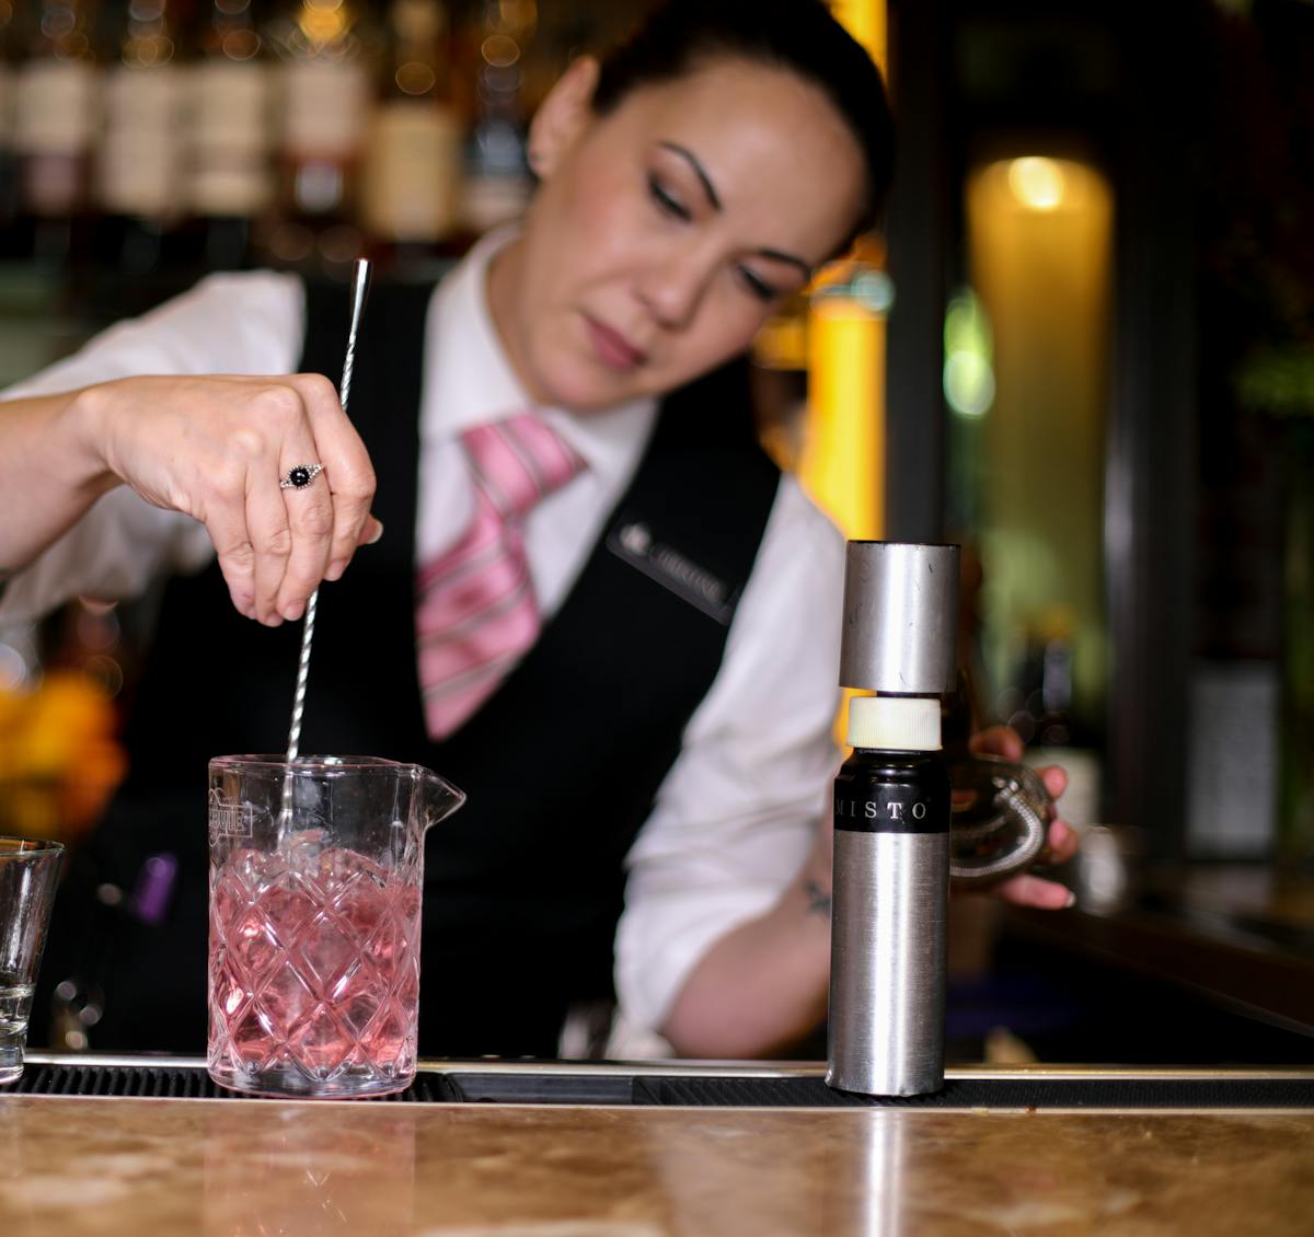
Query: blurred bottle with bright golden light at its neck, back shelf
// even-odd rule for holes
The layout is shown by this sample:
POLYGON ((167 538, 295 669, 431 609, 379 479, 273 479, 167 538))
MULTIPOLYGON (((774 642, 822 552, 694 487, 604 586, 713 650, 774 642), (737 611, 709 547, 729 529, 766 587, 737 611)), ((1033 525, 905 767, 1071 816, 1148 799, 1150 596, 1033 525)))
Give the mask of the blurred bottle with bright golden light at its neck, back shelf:
POLYGON ((373 39, 352 0, 292 0, 267 28, 283 109, 276 218, 261 257, 346 274, 360 255, 360 160, 371 113, 373 39))

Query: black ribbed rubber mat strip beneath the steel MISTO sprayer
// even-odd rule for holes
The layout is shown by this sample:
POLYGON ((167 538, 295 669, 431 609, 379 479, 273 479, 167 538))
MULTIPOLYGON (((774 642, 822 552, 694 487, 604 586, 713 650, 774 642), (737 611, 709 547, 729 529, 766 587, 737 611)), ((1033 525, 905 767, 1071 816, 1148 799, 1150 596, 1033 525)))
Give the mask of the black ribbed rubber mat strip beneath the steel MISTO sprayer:
POLYGON ((635 1078, 636 1104, 770 1108, 1314 1108, 1314 1079, 972 1078, 934 1095, 855 1095, 821 1078, 635 1078))

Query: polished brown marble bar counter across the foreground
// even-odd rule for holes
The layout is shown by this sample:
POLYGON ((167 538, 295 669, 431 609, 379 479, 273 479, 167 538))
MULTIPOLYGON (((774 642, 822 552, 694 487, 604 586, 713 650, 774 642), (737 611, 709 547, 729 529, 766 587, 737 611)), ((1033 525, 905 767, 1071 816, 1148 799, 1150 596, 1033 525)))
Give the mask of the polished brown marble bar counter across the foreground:
MULTIPOLYGON (((29 1086, 93 1077, 54 1068, 78 1060, 34 1058, 29 1073, 45 1061, 46 1081, 34 1075, 29 1086)), ((181 1064, 188 1069, 177 1077, 205 1081, 198 1062, 181 1064)), ((464 1087, 466 1102, 410 1103, 8 1089, 0 1091, 0 1233, 1310 1232, 1314 1070, 1193 1072, 1176 1079, 1188 1087, 1179 1096, 1223 1094, 1222 1086, 1234 1100, 1172 1108, 1099 1100, 1125 1093, 1129 1079, 1138 1094, 1164 1081, 1171 1087, 1169 1072, 1138 1078, 1053 1066, 950 1072, 950 1083, 971 1095, 970 1079, 984 1079, 1016 1096, 1017 1086, 1054 1078, 1076 1087, 1070 1095, 1093 1087, 1096 1107, 639 1106, 618 1087, 724 1075, 738 1087, 784 1087, 798 1103, 804 1091, 823 1094, 819 1074, 815 1065, 436 1062, 422 1070, 424 1094, 464 1087), (1123 1091, 1100 1093, 1101 1078, 1123 1091), (1235 1100, 1254 1100, 1265 1086, 1286 1099, 1235 1100), (543 1102, 572 1089, 590 1099, 543 1102), (518 1093, 539 1099, 470 1102, 518 1093)))

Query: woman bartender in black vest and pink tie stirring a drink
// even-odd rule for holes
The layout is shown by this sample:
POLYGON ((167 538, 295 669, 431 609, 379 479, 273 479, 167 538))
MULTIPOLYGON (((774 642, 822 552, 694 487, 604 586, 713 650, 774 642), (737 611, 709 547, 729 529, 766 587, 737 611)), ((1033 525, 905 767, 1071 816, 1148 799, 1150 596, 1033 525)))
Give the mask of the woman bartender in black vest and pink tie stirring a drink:
POLYGON ((842 542, 758 450, 742 355, 875 217, 879 76, 817 0, 673 0, 572 64, 530 158, 519 231, 376 289, 350 423, 346 295, 268 272, 8 395, 0 613, 176 576, 87 863, 179 875, 120 926, 97 1047, 204 1041, 204 762, 284 746, 321 580, 302 750, 469 793, 428 840, 422 1053, 551 1056, 612 984, 687 1056, 824 1014, 842 542))

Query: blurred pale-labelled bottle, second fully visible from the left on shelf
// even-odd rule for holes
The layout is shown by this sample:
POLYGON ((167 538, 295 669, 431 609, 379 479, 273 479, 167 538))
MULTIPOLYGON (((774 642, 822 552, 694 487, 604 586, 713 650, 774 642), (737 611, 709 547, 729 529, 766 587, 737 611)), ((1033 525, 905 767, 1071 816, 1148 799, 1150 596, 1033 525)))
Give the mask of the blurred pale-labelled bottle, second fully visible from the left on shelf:
MULTIPOLYGON (((96 259, 116 285, 118 313, 127 289, 150 286, 168 261, 164 248, 181 221, 183 101, 172 7, 177 0, 127 0, 118 59, 106 67, 96 150, 96 259)), ((130 297, 131 299, 131 297, 130 297)))

